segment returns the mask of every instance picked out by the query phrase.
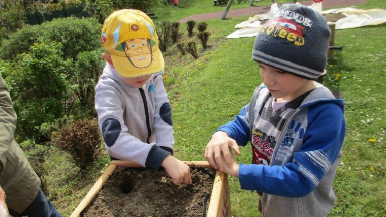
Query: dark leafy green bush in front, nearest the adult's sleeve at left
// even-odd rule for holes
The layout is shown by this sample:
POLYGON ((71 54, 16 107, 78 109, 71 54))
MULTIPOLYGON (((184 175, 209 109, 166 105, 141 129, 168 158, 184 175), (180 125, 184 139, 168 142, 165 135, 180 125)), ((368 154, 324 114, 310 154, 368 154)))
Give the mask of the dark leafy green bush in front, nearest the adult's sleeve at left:
POLYGON ((62 117, 71 108, 64 72, 72 63, 63 60, 61 50, 60 43, 36 43, 13 69, 11 65, 0 67, 8 73, 5 79, 18 115, 16 133, 22 140, 46 141, 37 127, 62 117))

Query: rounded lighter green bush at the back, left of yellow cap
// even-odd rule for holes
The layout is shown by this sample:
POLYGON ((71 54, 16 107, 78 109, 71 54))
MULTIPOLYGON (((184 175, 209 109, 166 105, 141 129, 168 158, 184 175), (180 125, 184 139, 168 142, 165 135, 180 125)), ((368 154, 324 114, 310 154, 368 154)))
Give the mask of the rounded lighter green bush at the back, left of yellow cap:
POLYGON ((101 47, 101 29, 102 26, 94 18, 68 17, 54 19, 42 25, 25 25, 3 41, 0 58, 15 60, 18 54, 28 52, 36 42, 54 41, 62 44, 63 59, 75 60, 80 52, 101 47))

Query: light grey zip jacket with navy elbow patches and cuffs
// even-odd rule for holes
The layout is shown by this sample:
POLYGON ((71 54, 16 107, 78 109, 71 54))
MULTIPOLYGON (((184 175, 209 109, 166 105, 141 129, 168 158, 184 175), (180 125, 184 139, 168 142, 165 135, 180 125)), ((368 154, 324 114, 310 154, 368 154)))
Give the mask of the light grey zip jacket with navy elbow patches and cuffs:
POLYGON ((95 109, 111 157, 158 170, 173 154, 172 110, 162 74, 134 88, 106 64, 95 87, 95 109))

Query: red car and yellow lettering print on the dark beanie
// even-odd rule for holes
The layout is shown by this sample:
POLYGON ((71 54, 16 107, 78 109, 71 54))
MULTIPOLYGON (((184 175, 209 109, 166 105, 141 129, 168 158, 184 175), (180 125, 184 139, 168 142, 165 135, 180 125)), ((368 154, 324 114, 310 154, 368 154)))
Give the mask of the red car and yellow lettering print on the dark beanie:
POLYGON ((270 19, 261 29, 263 34, 275 38, 285 39, 295 45, 302 46, 305 43, 304 33, 312 25, 312 20, 293 11, 282 11, 276 17, 270 19))

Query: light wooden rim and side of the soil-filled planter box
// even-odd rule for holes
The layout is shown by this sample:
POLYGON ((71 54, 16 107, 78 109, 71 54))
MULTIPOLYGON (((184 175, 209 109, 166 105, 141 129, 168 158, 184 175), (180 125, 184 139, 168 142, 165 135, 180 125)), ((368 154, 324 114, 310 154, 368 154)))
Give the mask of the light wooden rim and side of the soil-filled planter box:
MULTIPOLYGON (((207 161, 184 161, 187 165, 195 165, 197 167, 212 168, 207 161)), ((71 217, 80 217, 80 214, 87 208, 92 200, 101 191, 103 184, 113 174, 116 167, 142 167, 141 165, 131 161, 112 161, 107 167, 102 176, 95 182, 91 190, 80 202, 78 207, 71 214, 71 217)), ((226 173, 216 171, 213 180, 213 189, 208 206, 207 217, 231 216, 231 201, 229 197, 228 175, 226 173)))

